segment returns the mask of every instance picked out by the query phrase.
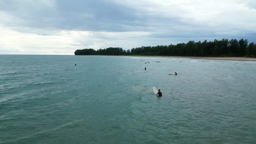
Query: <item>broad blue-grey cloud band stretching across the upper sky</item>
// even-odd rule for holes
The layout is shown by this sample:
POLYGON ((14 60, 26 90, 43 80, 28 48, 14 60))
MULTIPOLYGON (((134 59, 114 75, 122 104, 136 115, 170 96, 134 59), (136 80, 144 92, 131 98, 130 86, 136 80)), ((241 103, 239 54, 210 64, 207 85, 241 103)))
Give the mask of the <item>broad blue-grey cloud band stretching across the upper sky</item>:
MULTIPOLYGON (((229 32, 234 29, 231 28, 232 24, 226 22, 220 24, 218 20, 212 25, 202 24, 190 17, 182 18, 179 13, 162 14, 158 9, 151 12, 150 9, 135 8, 124 3, 116 3, 113 0, 2 0, 0 11, 14 16, 13 21, 5 21, 6 26, 16 28, 15 30, 19 32, 31 32, 34 28, 35 34, 44 36, 54 35, 51 30, 144 31, 152 33, 144 36, 149 38, 193 40, 226 38, 228 35, 220 35, 216 32, 229 32)), ((245 4, 256 6, 253 0, 245 4)), ((144 7, 147 7, 147 3, 144 7)), ((177 8, 173 12, 180 11, 177 8)), ((243 25, 244 21, 241 24, 243 25)), ((97 37, 100 38, 100 36, 97 37)), ((251 36, 248 35, 248 37, 251 36)))

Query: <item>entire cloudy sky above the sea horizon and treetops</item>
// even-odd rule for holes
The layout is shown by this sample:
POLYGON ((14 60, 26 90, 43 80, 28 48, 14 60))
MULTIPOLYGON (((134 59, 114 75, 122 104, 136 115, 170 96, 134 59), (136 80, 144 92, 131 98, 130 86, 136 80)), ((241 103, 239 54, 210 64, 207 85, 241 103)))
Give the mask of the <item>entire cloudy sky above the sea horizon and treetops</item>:
POLYGON ((256 0, 0 0, 0 54, 256 42, 256 0))

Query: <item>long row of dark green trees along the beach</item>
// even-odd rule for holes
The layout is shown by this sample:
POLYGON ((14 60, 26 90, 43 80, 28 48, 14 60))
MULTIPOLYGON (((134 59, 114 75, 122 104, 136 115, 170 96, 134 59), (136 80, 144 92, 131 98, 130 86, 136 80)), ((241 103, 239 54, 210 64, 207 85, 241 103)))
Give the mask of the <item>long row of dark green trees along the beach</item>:
POLYGON ((94 50, 76 50, 75 55, 139 55, 139 56, 235 56, 256 57, 256 43, 248 44, 247 39, 214 40, 203 42, 189 41, 168 46, 142 46, 123 50, 122 48, 105 48, 94 50))

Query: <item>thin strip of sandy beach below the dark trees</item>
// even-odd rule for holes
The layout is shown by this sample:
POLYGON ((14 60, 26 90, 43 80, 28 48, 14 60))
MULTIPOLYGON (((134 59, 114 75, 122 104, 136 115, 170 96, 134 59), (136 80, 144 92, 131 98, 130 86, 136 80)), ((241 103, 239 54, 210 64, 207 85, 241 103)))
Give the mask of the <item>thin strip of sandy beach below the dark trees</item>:
POLYGON ((256 58, 244 58, 244 57, 204 57, 204 56, 128 56, 128 57, 192 58, 192 59, 202 59, 202 60, 247 60, 247 61, 256 61, 256 58))

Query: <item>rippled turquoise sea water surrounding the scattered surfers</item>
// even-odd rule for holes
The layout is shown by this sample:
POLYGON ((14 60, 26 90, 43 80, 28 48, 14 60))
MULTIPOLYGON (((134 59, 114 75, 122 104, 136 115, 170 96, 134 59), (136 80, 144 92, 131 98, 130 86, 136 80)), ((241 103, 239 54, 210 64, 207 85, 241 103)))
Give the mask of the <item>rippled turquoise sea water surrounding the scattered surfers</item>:
POLYGON ((255 94, 252 61, 0 55, 0 144, 254 144, 255 94))

